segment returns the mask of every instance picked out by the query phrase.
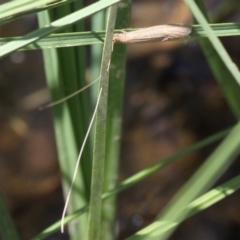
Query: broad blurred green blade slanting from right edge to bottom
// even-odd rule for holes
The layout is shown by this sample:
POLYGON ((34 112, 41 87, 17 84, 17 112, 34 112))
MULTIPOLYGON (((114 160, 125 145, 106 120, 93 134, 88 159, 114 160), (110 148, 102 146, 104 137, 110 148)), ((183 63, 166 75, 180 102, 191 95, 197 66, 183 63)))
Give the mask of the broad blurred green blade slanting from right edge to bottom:
POLYGON ((130 237, 131 240, 167 239, 173 230, 188 215, 183 209, 207 188, 211 187, 222 175, 227 167, 235 160, 240 152, 240 122, 231 130, 219 147, 208 157, 206 162, 175 195, 164 209, 157 221, 130 237), (162 223, 171 226, 169 231, 164 231, 162 223), (175 224, 177 223, 177 225, 175 224), (174 225, 174 226, 173 226, 174 225), (158 238, 156 238, 156 236, 158 238))

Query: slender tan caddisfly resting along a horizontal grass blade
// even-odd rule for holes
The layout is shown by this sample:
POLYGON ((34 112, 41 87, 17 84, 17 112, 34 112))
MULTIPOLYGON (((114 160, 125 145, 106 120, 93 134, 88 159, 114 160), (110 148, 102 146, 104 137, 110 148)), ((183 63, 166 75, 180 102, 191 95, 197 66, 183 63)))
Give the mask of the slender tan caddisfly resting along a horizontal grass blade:
POLYGON ((132 32, 122 32, 114 34, 113 42, 119 43, 148 43, 165 42, 186 38, 191 33, 192 28, 183 24, 158 25, 141 28, 132 32))

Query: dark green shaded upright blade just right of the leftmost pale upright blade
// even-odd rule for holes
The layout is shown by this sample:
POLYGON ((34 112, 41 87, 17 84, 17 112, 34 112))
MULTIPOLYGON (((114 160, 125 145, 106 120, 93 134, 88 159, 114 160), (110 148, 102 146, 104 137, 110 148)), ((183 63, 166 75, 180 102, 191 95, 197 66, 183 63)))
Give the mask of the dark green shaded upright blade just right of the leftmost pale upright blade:
MULTIPOLYGON (((80 4, 80 9, 83 8, 83 4, 81 1, 78 1, 80 4)), ((57 18, 61 18, 63 16, 67 16, 72 12, 79 10, 76 8, 74 3, 69 5, 64 5, 60 8, 57 8, 54 13, 57 18)), ((80 31, 84 31, 83 24, 82 29, 80 31)), ((65 32, 73 32, 74 26, 70 26, 65 29, 65 32)), ((80 56, 77 52, 77 48, 62 48, 58 50, 58 59, 61 66, 61 73, 62 73, 62 80, 64 85, 64 92, 66 95, 69 95, 78 89, 82 88, 86 85, 85 81, 85 72, 86 72, 86 55, 84 50, 80 52, 82 55, 80 56), (85 82, 85 83, 84 83, 85 82)), ((69 111, 71 115, 72 127, 73 127, 73 139, 75 141, 75 146, 77 147, 77 151, 81 148, 83 143, 84 136, 87 132, 88 124, 89 124, 89 98, 86 95, 86 92, 83 94, 79 94, 71 99, 68 100, 69 111), (86 99, 87 98, 87 99, 86 99), (84 108, 83 108, 84 105, 84 108), (85 111, 84 111, 85 110, 85 111)), ((78 156, 78 154, 77 154, 78 156)), ((62 172, 67 173, 68 176, 71 176, 71 181, 74 173, 74 169, 76 167, 77 156, 72 159, 68 159, 68 164, 65 165, 62 172)), ((86 145, 84 149, 82 159, 81 159, 81 166, 82 163, 89 163, 91 159, 91 149, 89 145, 86 145), (86 151, 88 150, 88 151, 86 151)), ((69 206, 69 211, 73 212, 81 206, 84 206, 89 200, 89 194, 87 194, 87 186, 85 185, 86 179, 84 176, 89 176, 90 172, 85 173, 84 169, 81 167, 78 171, 78 175, 76 180, 74 181, 74 188, 73 192, 71 193, 71 205, 69 206)), ((88 182, 89 184, 89 182, 88 182)), ((65 198, 68 194, 65 191, 65 198)), ((71 240, 78 240, 78 239, 86 239, 87 237, 87 214, 84 214, 79 221, 75 223, 71 223, 68 226, 70 239, 71 240)))

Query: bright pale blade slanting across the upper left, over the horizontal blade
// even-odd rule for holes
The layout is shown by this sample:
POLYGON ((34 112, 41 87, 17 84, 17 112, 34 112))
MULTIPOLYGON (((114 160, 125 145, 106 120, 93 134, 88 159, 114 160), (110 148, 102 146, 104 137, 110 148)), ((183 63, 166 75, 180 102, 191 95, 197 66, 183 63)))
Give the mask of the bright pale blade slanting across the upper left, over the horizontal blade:
POLYGON ((98 12, 106 7, 109 7, 110 5, 117 3, 119 1, 120 0, 103 0, 97 3, 94 3, 88 7, 85 7, 72 14, 69 14, 68 16, 58 19, 46 27, 43 27, 29 34, 26 34, 25 36, 21 37, 18 40, 6 43, 2 47, 0 47, 0 58, 10 54, 13 51, 16 51, 21 47, 24 47, 30 43, 36 42, 37 40, 39 40, 40 38, 46 35, 60 31, 61 29, 64 29, 70 26, 71 24, 76 23, 77 21, 91 14, 94 14, 95 12, 98 12))

